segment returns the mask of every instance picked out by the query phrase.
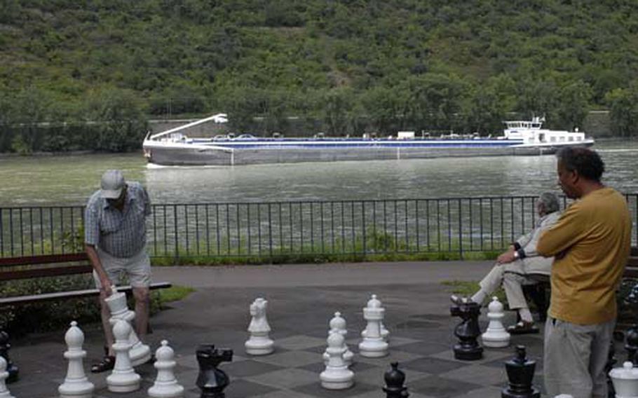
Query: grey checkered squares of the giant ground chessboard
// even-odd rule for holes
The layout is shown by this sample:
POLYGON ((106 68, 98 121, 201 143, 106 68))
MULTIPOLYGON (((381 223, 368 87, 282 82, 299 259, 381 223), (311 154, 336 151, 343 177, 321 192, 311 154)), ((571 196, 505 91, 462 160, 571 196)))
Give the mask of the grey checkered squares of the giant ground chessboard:
MULTIPOLYGON (((449 325, 441 321, 442 331, 449 325)), ((350 331, 354 334, 355 331, 350 331)), ((507 385, 503 362, 513 357, 513 348, 485 349, 483 358, 467 362, 454 359, 450 338, 437 336, 429 331, 430 338, 416 339, 391 335, 390 352, 384 358, 365 358, 358 355, 360 340, 350 339, 348 347, 355 353, 351 369, 355 373, 355 384, 347 390, 325 390, 320 386, 319 373, 325 369, 322 353, 325 339, 306 335, 293 335, 276 340, 276 351, 271 355, 248 357, 243 352, 233 356, 233 361, 222 364, 222 369, 231 378, 226 388, 228 398, 316 398, 316 397, 385 397, 384 372, 391 362, 399 362, 406 373, 406 385, 412 398, 442 397, 500 397, 501 389, 507 385)), ((515 336, 513 343, 528 347, 529 357, 537 360, 534 384, 542 387, 541 335, 515 336)), ((198 365, 194 355, 177 355, 175 373, 179 383, 186 387, 186 398, 196 398, 200 390, 195 386, 198 365)), ((151 365, 137 368, 141 374, 142 390, 129 394, 108 392, 105 375, 89 374, 95 383, 94 397, 147 397, 146 390, 153 383, 156 373, 151 365)), ((62 380, 55 380, 61 383, 62 380)), ((32 397, 20 393, 20 383, 11 391, 16 397, 32 397)), ((12 387, 12 385, 10 385, 12 387)), ((44 397, 44 396, 41 396, 44 397)), ((55 397, 54 394, 46 397, 55 397)))

